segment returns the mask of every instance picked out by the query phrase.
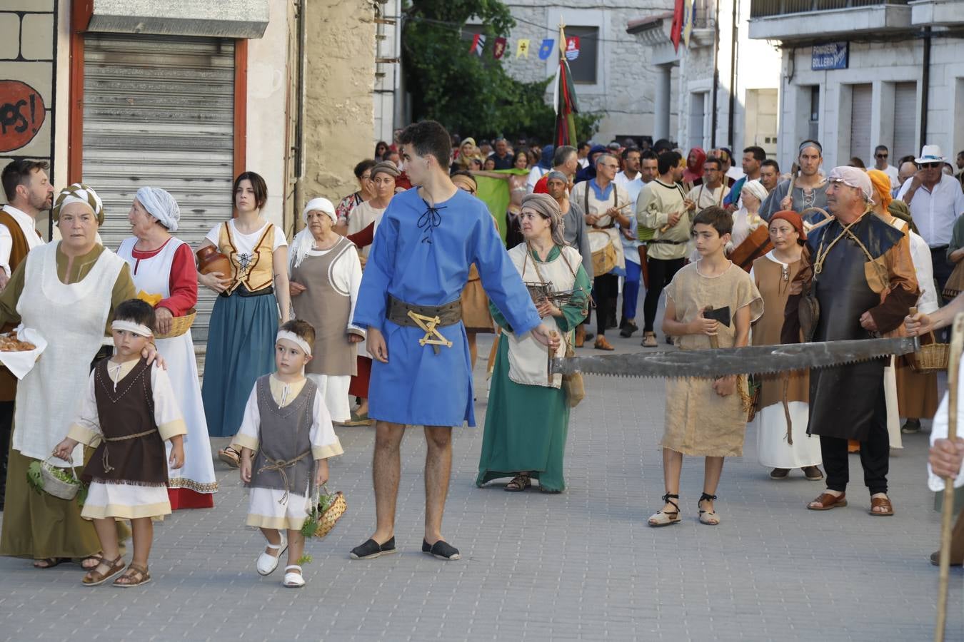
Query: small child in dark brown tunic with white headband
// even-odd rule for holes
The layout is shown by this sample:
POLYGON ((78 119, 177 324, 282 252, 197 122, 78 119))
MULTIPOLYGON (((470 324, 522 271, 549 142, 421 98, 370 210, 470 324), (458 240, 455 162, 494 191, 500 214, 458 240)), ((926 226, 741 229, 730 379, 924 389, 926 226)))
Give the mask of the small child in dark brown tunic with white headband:
POLYGON ((78 443, 96 447, 84 469, 91 481, 81 517, 94 520, 103 559, 83 578, 87 586, 103 584, 124 569, 116 520, 130 520, 134 558, 115 586, 150 581, 147 555, 153 539, 152 517, 171 514, 168 464, 184 465, 184 435, 171 380, 163 368, 151 366, 142 352, 153 338, 154 310, 146 302, 121 303, 111 323, 115 354, 91 372, 87 395, 54 454, 67 459, 78 443), (164 446, 171 441, 171 459, 164 446))

